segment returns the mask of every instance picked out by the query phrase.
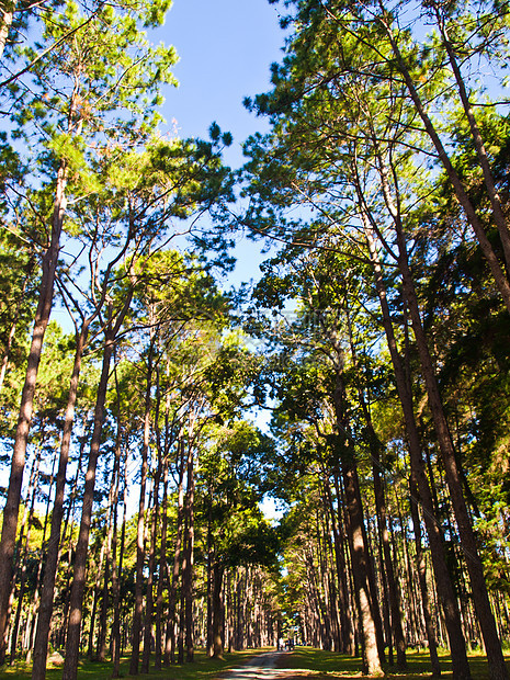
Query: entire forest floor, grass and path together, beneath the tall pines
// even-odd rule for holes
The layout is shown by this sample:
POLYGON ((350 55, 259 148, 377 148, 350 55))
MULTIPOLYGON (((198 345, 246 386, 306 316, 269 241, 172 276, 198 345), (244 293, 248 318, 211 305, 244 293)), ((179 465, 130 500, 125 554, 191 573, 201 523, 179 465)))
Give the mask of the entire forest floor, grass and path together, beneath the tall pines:
MULTIPOLYGON (((446 653, 440 656, 442 679, 451 679, 452 669, 446 653)), ((506 655, 510 672, 510 655, 506 655)), ((397 671, 385 667, 387 680, 423 680, 430 678, 430 662, 427 651, 410 651, 407 655, 408 670, 397 671)), ((489 677, 487 660, 480 654, 469 655, 473 680, 489 677)), ((129 657, 122 660, 121 673, 128 675, 129 657)), ((110 662, 82 661, 78 680, 109 680, 112 675, 110 662)), ((203 650, 196 650, 193 664, 175 664, 161 671, 137 676, 143 680, 348 680, 362 678, 361 660, 336 653, 298 647, 292 653, 275 653, 273 649, 246 649, 225 654, 223 660, 207 659, 203 650)), ((31 667, 23 662, 0 669, 0 680, 30 680, 31 667)), ((47 680, 60 680, 61 668, 48 668, 47 680)))

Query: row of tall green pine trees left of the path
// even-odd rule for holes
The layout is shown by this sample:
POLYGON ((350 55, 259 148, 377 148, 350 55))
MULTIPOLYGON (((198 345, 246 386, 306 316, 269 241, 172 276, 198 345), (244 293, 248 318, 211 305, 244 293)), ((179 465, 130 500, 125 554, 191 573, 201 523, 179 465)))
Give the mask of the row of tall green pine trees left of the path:
POLYGON ((0 662, 33 678, 48 648, 64 678, 80 654, 118 677, 124 653, 136 675, 273 637, 270 444, 214 280, 231 137, 161 132, 169 4, 2 8, 0 662))

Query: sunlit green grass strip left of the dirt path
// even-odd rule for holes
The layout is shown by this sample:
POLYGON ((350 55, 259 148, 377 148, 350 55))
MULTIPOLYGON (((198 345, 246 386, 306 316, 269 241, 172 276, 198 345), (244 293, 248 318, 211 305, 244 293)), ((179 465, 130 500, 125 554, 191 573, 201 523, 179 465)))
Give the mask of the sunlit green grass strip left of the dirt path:
MULTIPOLYGON (((256 654, 261 654, 264 649, 246 649, 242 651, 233 651, 225 654, 225 659, 208 659, 205 651, 195 650, 195 660, 193 664, 175 664, 169 668, 165 668, 159 672, 150 672, 144 676, 136 676, 143 680, 215 680, 223 671, 243 664, 256 654)), ((134 678, 128 675, 129 657, 125 657, 121 662, 121 673, 123 678, 134 678)), ((47 680, 60 680, 63 675, 61 668, 48 668, 46 673, 47 680)), ((82 661, 78 670, 78 680, 100 680, 101 678, 111 678, 112 664, 98 664, 93 661, 82 661)), ((19 662, 14 666, 4 666, 0 669, 0 678, 8 680, 30 680, 31 666, 19 662)))

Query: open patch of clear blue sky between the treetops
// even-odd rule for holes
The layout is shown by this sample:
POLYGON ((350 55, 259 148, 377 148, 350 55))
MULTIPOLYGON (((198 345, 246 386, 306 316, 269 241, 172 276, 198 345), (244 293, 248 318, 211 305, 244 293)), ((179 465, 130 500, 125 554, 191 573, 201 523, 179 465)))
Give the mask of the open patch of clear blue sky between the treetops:
POLYGON ((270 65, 282 58, 279 9, 268 0, 173 0, 157 39, 180 56, 180 86, 166 92, 169 127, 175 120, 179 136, 206 137, 216 121, 234 135, 227 162, 240 165, 240 144, 264 126, 242 100, 270 89, 270 65))

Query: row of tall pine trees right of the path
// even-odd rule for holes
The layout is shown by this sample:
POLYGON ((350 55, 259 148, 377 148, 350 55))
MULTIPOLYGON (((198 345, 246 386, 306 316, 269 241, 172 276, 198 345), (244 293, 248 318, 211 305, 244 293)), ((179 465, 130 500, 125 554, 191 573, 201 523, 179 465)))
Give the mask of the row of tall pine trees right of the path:
POLYGON ((423 641, 438 673, 447 641, 454 677, 473 644, 507 678, 507 8, 282 4, 243 180, 283 243, 249 328, 273 343, 291 601, 371 673, 423 641))

